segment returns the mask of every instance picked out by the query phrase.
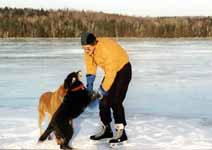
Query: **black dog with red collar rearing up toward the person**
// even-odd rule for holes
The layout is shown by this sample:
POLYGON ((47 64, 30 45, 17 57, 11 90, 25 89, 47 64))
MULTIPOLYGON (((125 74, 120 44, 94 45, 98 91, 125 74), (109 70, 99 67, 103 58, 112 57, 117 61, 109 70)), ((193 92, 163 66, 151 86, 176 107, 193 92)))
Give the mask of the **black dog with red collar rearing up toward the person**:
POLYGON ((64 81, 64 87, 68 90, 60 107, 54 113, 47 129, 40 136, 39 142, 46 140, 51 132, 55 132, 60 139, 61 149, 71 149, 68 146, 73 136, 72 119, 78 117, 92 101, 83 83, 78 78, 77 72, 70 73, 64 81))

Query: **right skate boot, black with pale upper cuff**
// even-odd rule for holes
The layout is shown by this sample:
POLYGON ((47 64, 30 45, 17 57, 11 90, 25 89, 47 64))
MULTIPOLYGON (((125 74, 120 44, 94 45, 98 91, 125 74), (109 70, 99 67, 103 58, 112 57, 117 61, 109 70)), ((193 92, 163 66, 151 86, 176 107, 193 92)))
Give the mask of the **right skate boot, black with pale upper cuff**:
POLYGON ((115 136, 109 141, 111 147, 122 145, 127 141, 127 135, 123 124, 115 124, 116 133, 115 136))

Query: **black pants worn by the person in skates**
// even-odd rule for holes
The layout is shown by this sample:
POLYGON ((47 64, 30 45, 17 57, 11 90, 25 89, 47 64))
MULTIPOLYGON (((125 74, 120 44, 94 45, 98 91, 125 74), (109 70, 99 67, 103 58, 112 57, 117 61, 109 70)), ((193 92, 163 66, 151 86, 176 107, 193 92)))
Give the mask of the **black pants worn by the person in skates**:
POLYGON ((115 80, 108 92, 99 104, 100 118, 104 125, 112 121, 111 109, 115 123, 122 123, 126 126, 125 112, 123 101, 125 99, 128 85, 132 76, 131 64, 127 63, 117 74, 115 80))

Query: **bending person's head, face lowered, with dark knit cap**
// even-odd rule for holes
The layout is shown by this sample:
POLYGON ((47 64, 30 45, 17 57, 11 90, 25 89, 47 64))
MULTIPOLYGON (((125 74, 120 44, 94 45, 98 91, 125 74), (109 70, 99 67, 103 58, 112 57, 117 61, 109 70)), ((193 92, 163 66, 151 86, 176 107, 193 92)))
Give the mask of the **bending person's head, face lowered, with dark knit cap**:
POLYGON ((83 32, 81 35, 81 45, 88 55, 92 55, 96 47, 96 37, 90 32, 83 32))

